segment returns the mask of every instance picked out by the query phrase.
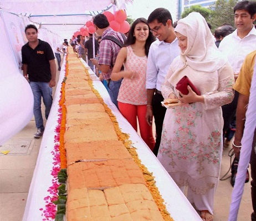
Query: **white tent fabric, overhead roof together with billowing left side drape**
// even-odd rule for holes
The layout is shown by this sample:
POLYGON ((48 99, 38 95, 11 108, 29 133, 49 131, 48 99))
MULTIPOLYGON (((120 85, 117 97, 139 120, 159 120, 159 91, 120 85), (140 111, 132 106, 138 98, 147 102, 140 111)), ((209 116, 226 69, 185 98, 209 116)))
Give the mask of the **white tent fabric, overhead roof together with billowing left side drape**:
POLYGON ((23 101, 17 96, 18 87, 13 83, 13 89, 10 87, 8 91, 5 83, 13 82, 14 77, 23 91, 30 91, 28 83, 21 77, 21 48, 27 43, 25 26, 35 24, 39 29, 38 37, 54 49, 64 38, 70 39, 94 15, 105 10, 125 9, 127 3, 132 3, 132 0, 0 0, 0 40, 3 43, 0 50, 0 92, 2 95, 7 92, 0 97, 0 122, 4 122, 0 125, 0 145, 21 130, 32 117, 32 93, 23 101), (17 112, 17 109, 26 111, 17 112), (23 113, 23 116, 22 120, 16 120, 19 125, 14 129, 12 120, 18 113, 23 113))

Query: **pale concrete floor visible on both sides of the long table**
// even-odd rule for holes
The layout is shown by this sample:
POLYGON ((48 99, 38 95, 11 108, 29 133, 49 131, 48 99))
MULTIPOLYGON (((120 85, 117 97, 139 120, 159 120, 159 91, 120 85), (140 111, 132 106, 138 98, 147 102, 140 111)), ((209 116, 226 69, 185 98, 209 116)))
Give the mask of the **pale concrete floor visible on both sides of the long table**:
MULTIPOLYGON (((0 221, 22 220, 29 185, 42 140, 34 139, 34 133, 35 122, 32 119, 22 131, 4 143, 2 147, 0 146, 0 151, 11 150, 7 155, 0 153, 0 221)), ((228 156, 230 148, 230 146, 224 148, 223 151, 221 177, 230 166, 230 157, 228 156)), ((228 176, 230 174, 229 172, 228 176)), ((214 204, 214 221, 226 221, 228 219, 232 189, 230 178, 219 181, 214 204)), ((186 211, 184 212, 186 213, 186 211)), ((250 220, 250 213, 252 213, 250 183, 245 183, 238 220, 250 220)))

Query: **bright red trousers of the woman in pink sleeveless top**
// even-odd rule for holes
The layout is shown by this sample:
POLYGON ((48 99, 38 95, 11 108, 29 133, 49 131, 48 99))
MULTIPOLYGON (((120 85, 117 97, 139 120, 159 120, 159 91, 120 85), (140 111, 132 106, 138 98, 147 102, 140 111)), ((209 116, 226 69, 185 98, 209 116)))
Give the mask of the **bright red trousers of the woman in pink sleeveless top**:
POLYGON ((142 140, 153 150, 155 139, 153 138, 152 126, 146 122, 146 105, 133 105, 118 102, 119 111, 137 131, 137 118, 139 121, 140 135, 142 140))

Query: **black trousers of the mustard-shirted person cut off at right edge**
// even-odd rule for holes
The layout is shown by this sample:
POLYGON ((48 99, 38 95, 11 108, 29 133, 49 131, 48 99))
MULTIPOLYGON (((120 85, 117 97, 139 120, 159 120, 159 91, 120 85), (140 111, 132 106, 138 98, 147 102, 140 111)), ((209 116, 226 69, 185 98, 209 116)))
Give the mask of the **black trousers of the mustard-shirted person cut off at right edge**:
POLYGON ((255 132, 254 132, 254 139, 253 139, 252 155, 250 156, 250 176, 252 177, 252 182, 250 182, 250 185, 252 186, 251 194, 252 194, 252 204, 253 204, 253 213, 251 216, 252 221, 256 221, 256 154, 254 150, 254 147, 256 145, 255 132))

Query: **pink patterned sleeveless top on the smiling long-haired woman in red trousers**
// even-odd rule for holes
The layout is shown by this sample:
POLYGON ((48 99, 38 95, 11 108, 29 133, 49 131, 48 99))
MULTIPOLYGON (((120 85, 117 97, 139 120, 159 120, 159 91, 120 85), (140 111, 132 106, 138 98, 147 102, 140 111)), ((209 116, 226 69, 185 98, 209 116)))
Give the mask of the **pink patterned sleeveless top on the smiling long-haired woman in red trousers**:
POLYGON ((117 101, 134 105, 147 104, 146 69, 147 56, 139 57, 134 54, 131 46, 127 46, 125 70, 135 71, 132 79, 122 80, 117 101))

